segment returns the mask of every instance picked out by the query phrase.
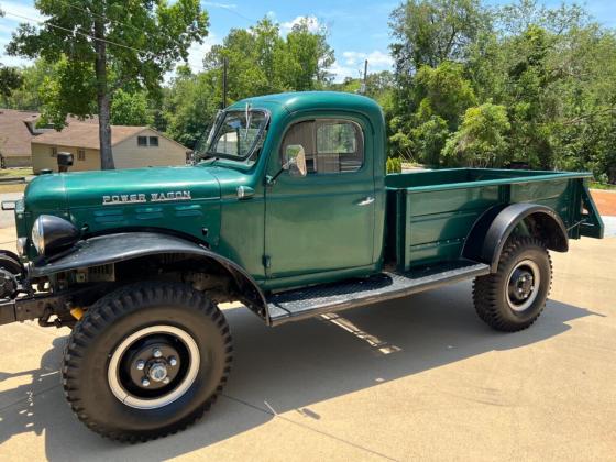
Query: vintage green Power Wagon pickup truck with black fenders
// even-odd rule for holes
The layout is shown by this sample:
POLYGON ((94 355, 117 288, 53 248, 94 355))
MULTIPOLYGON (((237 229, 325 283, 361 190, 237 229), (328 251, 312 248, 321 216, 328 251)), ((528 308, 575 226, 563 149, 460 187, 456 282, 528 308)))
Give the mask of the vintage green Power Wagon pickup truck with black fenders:
POLYGON ((305 92, 221 111, 190 166, 43 174, 3 204, 19 255, 0 253, 0 323, 70 328, 73 410, 145 441, 193 424, 227 382, 221 302, 278 326, 474 279, 480 318, 517 331, 544 307, 548 250, 603 237, 590 174, 386 175, 385 157, 373 100, 305 92))

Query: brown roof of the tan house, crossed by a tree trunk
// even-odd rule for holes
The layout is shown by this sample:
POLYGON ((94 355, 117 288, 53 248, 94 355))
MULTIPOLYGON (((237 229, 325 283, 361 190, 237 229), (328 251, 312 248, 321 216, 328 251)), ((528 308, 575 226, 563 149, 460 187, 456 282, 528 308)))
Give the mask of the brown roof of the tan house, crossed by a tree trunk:
MULTIPOLYGON (((150 129, 148 127, 111 125, 111 145, 150 129)), ((152 129, 151 129, 152 130, 152 129)), ((161 135, 162 136, 162 135, 161 135)), ((36 144, 54 144, 58 146, 74 146, 90 150, 99 148, 98 124, 74 121, 62 131, 50 131, 32 140, 36 144)))

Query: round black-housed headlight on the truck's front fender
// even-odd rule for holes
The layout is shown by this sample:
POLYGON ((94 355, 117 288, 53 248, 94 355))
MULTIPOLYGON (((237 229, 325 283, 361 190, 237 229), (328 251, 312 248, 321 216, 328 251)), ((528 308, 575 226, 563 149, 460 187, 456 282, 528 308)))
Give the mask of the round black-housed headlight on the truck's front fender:
POLYGON ((32 243, 40 255, 51 255, 75 244, 79 230, 67 220, 53 215, 42 215, 32 227, 32 243))

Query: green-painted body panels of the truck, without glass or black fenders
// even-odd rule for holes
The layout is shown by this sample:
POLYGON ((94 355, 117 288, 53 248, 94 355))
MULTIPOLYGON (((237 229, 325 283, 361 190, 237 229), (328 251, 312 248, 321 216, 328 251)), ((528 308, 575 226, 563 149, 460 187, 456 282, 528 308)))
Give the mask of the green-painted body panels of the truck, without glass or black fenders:
MULTIPOLYGON (((255 162, 42 175, 15 211, 19 235, 30 238, 42 213, 70 220, 84 239, 127 230, 173 233, 238 263, 263 289, 280 289, 374 274, 386 260, 399 270, 457 260, 476 220, 498 205, 546 205, 570 238, 583 233, 590 174, 462 168, 386 176, 385 121, 373 100, 282 94, 239 101, 227 111, 246 105, 270 118, 255 162), (280 169, 289 127, 321 118, 361 128, 363 166, 306 177, 285 172, 268 184, 280 169), (240 198, 240 186, 254 194, 240 198), (366 198, 373 200, 364 206, 366 198)), ((30 239, 26 249, 25 260, 33 260, 30 239)))

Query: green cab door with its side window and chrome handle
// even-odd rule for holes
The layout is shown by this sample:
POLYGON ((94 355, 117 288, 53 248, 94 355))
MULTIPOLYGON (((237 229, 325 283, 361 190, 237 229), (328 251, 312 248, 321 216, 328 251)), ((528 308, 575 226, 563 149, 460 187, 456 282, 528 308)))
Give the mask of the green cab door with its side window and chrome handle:
POLYGON ((275 175, 298 154, 299 162, 295 158, 266 190, 270 278, 373 263, 375 190, 367 133, 360 121, 344 117, 310 118, 287 128, 278 152, 271 153, 268 173, 275 175))

